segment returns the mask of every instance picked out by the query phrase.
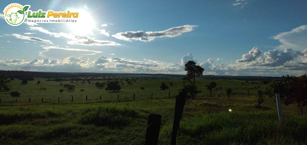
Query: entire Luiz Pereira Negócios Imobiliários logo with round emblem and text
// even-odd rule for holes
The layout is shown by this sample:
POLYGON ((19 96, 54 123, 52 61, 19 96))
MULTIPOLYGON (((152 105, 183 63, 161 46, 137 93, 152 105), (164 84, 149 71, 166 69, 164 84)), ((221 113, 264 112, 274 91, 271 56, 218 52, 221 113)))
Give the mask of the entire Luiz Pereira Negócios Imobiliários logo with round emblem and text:
POLYGON ((5 21, 11 26, 21 25, 24 21, 28 23, 76 23, 79 13, 68 11, 37 11, 29 10, 30 5, 22 6, 11 3, 3 10, 5 21), (25 20, 27 19, 27 20, 25 20))

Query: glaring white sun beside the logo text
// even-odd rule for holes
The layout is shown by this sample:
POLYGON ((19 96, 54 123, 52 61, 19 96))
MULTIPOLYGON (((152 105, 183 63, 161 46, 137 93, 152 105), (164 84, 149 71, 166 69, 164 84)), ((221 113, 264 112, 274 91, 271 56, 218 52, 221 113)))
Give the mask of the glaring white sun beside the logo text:
POLYGON ((67 23, 68 28, 74 34, 92 34, 92 30, 95 29, 95 20, 93 19, 93 13, 84 9, 70 9, 71 12, 78 12, 77 22, 67 23))

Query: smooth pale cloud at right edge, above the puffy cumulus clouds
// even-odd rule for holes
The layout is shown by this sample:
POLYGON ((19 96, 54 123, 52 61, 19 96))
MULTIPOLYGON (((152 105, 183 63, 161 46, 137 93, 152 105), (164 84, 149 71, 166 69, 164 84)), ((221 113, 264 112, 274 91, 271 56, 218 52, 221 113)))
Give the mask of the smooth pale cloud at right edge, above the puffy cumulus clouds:
POLYGON ((301 25, 288 32, 282 32, 273 37, 281 44, 277 48, 293 48, 303 50, 307 48, 307 25, 301 25))

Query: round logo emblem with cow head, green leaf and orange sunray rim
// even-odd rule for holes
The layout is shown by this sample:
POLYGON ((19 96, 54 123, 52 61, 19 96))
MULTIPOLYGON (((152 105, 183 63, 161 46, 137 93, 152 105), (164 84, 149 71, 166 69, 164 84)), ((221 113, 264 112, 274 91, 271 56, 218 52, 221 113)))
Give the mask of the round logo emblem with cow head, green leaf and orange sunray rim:
POLYGON ((4 19, 11 26, 18 26, 25 20, 25 12, 29 9, 29 5, 22 6, 18 3, 11 3, 3 10, 4 19))

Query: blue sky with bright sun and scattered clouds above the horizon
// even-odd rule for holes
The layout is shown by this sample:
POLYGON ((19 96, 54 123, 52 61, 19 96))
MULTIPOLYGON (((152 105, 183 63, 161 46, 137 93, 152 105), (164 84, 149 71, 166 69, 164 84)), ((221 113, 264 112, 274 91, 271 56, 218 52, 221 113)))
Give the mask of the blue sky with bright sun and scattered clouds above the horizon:
MULTIPOLYGON (((305 0, 1 1, 78 11, 77 23, 11 26, 0 14, 0 70, 204 75, 307 73, 305 0)), ((26 21, 26 20, 25 20, 26 21)))

